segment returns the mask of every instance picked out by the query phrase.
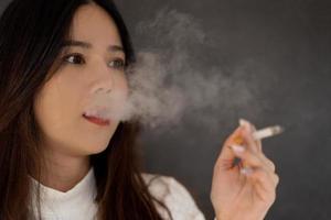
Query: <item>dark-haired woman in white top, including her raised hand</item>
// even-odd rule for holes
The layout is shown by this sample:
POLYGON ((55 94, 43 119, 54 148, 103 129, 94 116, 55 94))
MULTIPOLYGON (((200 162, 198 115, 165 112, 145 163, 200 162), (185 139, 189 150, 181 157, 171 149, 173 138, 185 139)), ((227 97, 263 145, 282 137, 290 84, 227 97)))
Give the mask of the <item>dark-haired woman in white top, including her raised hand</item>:
MULTIPOLYGON (((174 178, 141 173, 138 122, 86 114, 94 94, 127 94, 135 62, 110 0, 14 0, 0 33, 1 220, 204 219, 174 178)), ((275 166, 253 131, 242 121, 214 166, 217 220, 261 220, 275 200, 275 166)))

